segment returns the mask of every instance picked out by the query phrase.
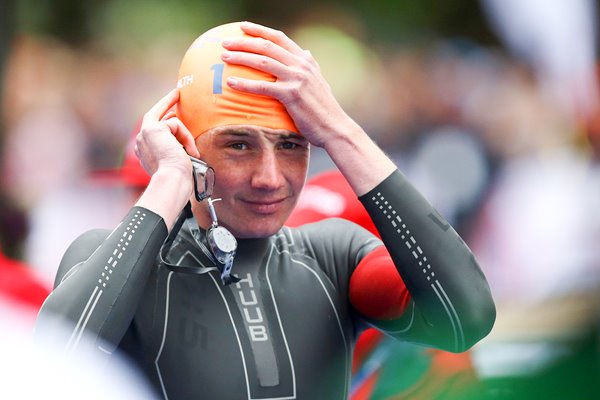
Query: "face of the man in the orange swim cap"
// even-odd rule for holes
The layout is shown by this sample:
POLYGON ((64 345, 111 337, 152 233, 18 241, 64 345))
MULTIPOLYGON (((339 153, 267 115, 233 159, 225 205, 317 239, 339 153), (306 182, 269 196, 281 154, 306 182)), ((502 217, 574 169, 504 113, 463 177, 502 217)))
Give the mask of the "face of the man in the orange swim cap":
MULTIPOLYGON (((308 168, 308 141, 297 134, 251 125, 219 127, 196 139, 201 158, 215 170, 213 199, 219 224, 237 238, 276 233, 292 212, 308 168)), ((210 226, 206 201, 196 204, 210 226)))

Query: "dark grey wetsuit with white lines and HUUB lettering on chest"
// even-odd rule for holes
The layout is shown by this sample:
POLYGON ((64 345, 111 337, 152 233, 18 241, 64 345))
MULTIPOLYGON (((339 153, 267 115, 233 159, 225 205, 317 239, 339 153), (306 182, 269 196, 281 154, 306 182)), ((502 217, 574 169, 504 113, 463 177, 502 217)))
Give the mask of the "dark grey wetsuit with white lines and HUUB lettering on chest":
MULTIPOLYGON (((69 248, 38 318, 72 321, 100 350, 130 354, 169 399, 346 399, 355 338, 374 325, 403 340, 462 351, 485 335, 494 308, 460 237, 396 172, 361 198, 407 288, 402 317, 372 321, 348 299, 354 268, 381 245, 331 219, 240 240, 234 273, 173 272, 157 262, 166 227, 134 207, 111 235, 91 231, 69 248), (92 254, 93 253, 93 254, 92 254), (91 255, 91 256, 90 256, 91 255)), ((204 232, 187 220, 169 263, 213 266, 204 232)))

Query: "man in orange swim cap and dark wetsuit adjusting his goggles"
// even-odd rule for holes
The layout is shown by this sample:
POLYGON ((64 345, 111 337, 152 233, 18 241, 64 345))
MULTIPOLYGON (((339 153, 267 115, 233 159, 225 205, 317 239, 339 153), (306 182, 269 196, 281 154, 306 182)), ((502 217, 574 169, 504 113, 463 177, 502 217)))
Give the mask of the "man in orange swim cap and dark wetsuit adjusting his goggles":
POLYGON ((345 114, 308 51, 282 32, 227 24, 192 44, 178 86, 137 138, 148 187, 113 232, 67 250, 39 335, 58 316, 71 326, 58 338, 68 352, 95 335, 165 398, 346 399, 353 342, 369 325, 455 352, 490 331, 495 308, 471 252, 345 114), (329 153, 385 246, 343 220, 282 228, 309 144, 329 153), (189 156, 216 183, 214 201, 192 199, 183 221, 189 156), (236 284, 218 279, 227 263, 207 239, 217 224, 238 240, 236 284))

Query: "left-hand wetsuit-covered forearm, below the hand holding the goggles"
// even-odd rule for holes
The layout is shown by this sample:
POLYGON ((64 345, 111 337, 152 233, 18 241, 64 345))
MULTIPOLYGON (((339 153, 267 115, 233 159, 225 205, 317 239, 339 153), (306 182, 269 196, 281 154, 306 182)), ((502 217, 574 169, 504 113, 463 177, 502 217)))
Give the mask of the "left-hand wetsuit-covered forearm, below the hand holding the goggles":
POLYGON ((68 351, 75 350, 83 338, 112 352, 132 321, 166 235, 159 215, 132 208, 50 294, 38 316, 36 335, 58 341, 68 351))

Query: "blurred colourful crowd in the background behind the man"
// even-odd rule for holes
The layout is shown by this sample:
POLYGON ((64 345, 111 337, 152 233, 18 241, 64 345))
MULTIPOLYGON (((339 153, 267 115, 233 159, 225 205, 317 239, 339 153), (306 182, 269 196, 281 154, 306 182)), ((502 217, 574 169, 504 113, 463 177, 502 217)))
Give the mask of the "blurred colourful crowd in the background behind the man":
MULTIPOLYGON (((37 3, 0 21, 0 263, 22 274, 0 271, 0 327, 32 326, 68 244, 133 204, 112 172, 193 39, 248 19, 311 50, 475 253, 498 308, 471 352, 487 393, 600 398, 595 1, 37 3)), ((313 149, 309 175, 332 168, 313 149)))

